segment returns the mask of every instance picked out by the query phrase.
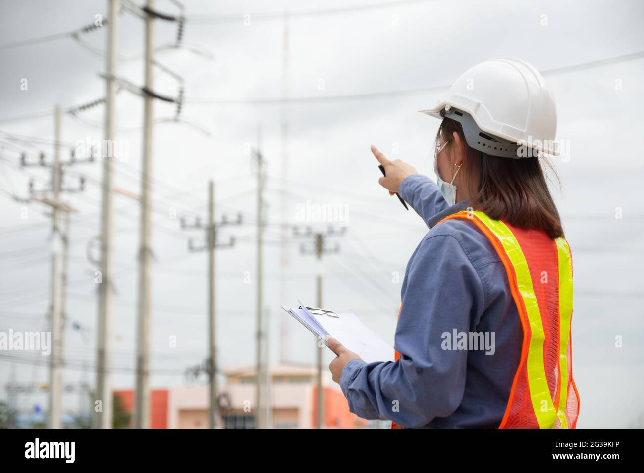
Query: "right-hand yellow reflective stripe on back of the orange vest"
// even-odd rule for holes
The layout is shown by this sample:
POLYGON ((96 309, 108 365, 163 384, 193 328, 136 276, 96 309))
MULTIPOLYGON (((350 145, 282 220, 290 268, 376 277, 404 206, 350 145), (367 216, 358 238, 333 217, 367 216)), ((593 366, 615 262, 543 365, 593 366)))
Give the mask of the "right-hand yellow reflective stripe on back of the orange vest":
POLYGON ((570 319, 573 315, 573 263, 570 249, 563 238, 557 238, 557 255, 559 259, 559 407, 557 416, 562 429, 567 429, 565 405, 568 394, 568 339, 570 336, 570 319))

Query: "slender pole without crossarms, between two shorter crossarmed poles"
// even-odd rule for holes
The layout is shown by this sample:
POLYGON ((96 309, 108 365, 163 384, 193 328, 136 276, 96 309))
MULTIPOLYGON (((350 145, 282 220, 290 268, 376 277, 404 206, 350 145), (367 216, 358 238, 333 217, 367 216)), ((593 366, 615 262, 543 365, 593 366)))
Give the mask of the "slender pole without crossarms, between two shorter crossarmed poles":
POLYGON ((263 415, 263 409, 265 406, 263 402, 265 400, 262 396, 263 384, 264 384, 264 373, 263 365, 261 363, 261 354, 263 348, 263 330, 262 330, 262 321, 261 321, 261 283, 262 283, 262 236, 263 236, 263 202, 262 202, 262 192, 264 189, 264 176, 263 176, 263 159, 261 156, 261 136, 258 129, 257 133, 257 149, 255 150, 255 158, 257 160, 257 268, 256 268, 256 281, 257 281, 257 296, 256 296, 256 310, 257 310, 257 321, 256 321, 256 382, 255 382, 255 427, 256 429, 265 429, 266 416, 263 415))

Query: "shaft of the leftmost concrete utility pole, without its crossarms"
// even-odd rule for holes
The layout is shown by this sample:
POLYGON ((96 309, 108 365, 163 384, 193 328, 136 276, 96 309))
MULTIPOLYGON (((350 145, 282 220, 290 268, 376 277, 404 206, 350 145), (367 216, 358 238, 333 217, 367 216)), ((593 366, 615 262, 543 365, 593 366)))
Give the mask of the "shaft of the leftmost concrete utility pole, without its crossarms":
POLYGON ((60 198, 62 184, 61 161, 61 107, 56 106, 56 147, 52 166, 52 306, 51 306, 51 331, 52 353, 50 354, 50 382, 49 382, 49 422, 50 429, 61 428, 62 417, 62 310, 61 310, 61 252, 63 237, 61 232, 60 198))

